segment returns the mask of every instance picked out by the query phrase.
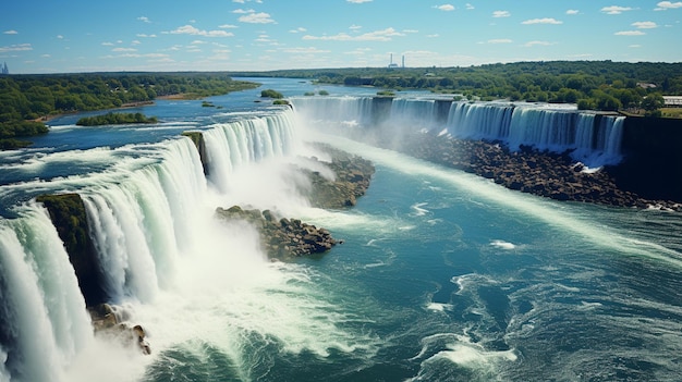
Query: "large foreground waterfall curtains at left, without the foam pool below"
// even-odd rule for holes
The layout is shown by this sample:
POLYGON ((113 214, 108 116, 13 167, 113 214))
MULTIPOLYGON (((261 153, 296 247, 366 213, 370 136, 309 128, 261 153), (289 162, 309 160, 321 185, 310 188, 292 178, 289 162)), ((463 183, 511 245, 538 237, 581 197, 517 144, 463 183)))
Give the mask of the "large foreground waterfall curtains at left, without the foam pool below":
MULTIPOLYGON (((212 156, 211 174, 224 180, 233 169, 292 153, 296 147, 292 114, 280 110, 208 126, 204 134, 212 156)), ((53 180, 52 188, 81 195, 110 301, 154 305, 178 287, 178 279, 186 278, 184 268, 197 254, 234 246, 214 219, 219 205, 214 204, 190 138, 132 145, 103 155, 118 158, 109 170, 53 180)), ((74 359, 81 359, 80 373, 87 369, 82 358, 95 340, 90 318, 45 208, 32 201, 15 207, 15 213, 19 218, 0 218, 0 381, 61 382, 68 380, 74 359)), ((254 235, 241 237, 253 246, 249 251, 257 250, 254 235)), ((231 255, 234 280, 243 272, 234 264, 267 263, 260 257, 246 260, 238 255, 231 255)))

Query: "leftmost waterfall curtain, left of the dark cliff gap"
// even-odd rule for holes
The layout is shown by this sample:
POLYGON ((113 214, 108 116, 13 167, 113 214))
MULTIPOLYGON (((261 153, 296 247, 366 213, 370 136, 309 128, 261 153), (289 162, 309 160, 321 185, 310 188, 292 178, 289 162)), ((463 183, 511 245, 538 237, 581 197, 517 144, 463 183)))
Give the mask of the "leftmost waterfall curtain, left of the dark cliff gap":
POLYGON ((22 381, 62 381, 64 368, 93 340, 69 256, 39 205, 0 223, 0 280, 5 287, 0 292, 0 324, 12 341, 0 370, 22 381))

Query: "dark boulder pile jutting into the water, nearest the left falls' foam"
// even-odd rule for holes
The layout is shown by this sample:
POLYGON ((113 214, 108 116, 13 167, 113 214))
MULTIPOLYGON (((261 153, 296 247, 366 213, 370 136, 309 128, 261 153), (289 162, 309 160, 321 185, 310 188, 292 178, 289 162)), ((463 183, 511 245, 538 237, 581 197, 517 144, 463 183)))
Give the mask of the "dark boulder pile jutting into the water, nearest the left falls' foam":
POLYGON ((326 252, 337 245, 329 231, 303 223, 297 219, 278 219, 270 210, 242 209, 233 206, 218 208, 220 219, 241 220, 252 224, 260 234, 260 245, 270 259, 291 259, 326 252))

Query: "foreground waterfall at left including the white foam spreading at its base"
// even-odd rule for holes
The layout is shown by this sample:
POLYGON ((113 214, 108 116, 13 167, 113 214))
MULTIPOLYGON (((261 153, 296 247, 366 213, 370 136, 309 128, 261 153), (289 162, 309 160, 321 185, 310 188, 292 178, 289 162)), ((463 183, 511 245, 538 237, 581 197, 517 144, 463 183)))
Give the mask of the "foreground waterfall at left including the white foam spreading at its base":
MULTIPOLYGON (((277 338, 288 352, 322 355, 330 348, 356 349, 367 341, 337 328, 346 318, 313 297, 317 292, 308 286, 307 271, 270 263, 252 227, 214 215, 216 207, 231 206, 226 200, 249 200, 234 195, 234 187, 260 193, 273 205, 280 205, 279 196, 299 202, 295 192, 280 188, 296 181, 281 158, 294 160, 302 152, 292 113, 280 110, 208 126, 210 182, 186 137, 110 150, 105 153, 123 158, 110 160, 117 163, 110 170, 56 181, 54 189, 81 195, 106 293, 125 307, 134 324, 145 325, 155 352, 200 338, 251 379, 251 368, 263 362, 245 353, 252 332, 277 338), (234 187, 226 194, 211 186, 220 184, 217 178, 234 187)), ((93 335, 73 268, 47 212, 34 202, 19 213, 19 219, 0 220, 0 380, 139 378, 145 359, 93 335)))

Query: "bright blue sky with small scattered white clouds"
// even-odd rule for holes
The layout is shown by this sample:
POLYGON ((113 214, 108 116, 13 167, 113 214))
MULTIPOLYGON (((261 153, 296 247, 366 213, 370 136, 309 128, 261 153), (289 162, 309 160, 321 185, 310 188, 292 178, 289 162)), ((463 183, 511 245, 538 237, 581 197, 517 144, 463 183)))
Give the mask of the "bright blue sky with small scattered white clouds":
POLYGON ((5 0, 11 73, 682 61, 682 1, 5 0))

